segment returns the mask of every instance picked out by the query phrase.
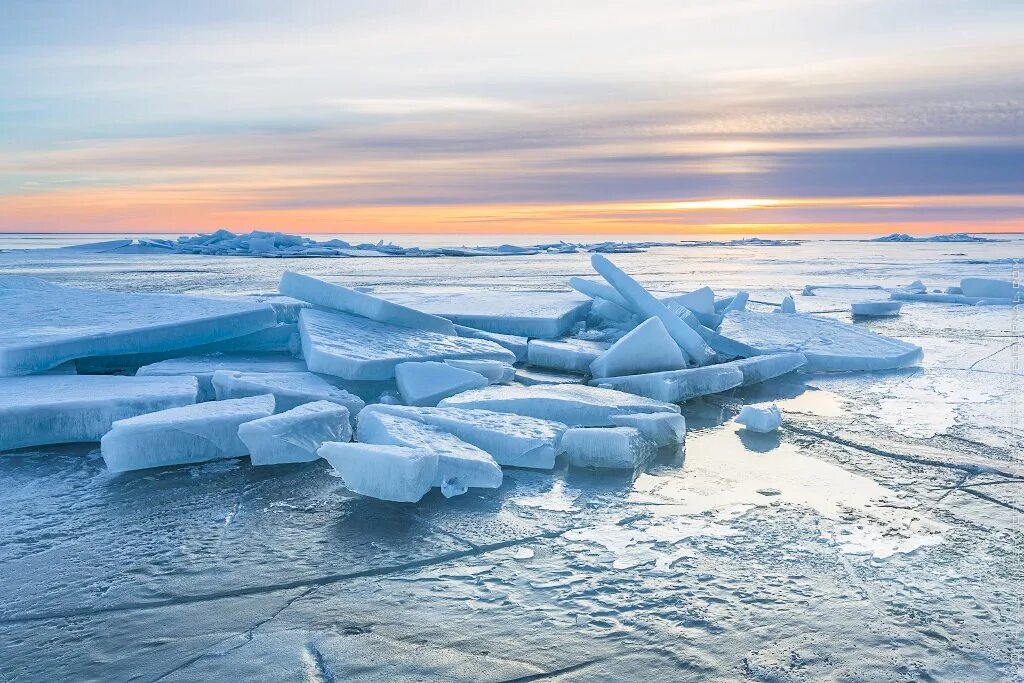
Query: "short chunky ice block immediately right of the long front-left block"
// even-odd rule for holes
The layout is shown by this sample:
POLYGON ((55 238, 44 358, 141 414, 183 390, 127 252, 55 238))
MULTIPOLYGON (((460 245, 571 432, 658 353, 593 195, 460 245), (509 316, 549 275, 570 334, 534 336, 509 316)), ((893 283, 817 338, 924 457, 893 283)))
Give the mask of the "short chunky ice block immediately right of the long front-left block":
POLYGON ((352 426, 348 409, 329 400, 303 403, 290 411, 239 425, 239 438, 253 465, 310 463, 325 441, 348 441, 352 426))

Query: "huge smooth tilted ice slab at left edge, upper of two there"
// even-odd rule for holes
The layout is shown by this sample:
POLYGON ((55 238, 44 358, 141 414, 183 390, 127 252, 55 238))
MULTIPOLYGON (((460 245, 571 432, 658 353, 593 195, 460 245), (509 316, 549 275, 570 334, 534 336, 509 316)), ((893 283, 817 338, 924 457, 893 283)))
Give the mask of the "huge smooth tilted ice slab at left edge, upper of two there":
POLYGON ((244 300, 100 292, 0 276, 0 376, 86 356, 186 348, 276 323, 273 308, 244 300))

